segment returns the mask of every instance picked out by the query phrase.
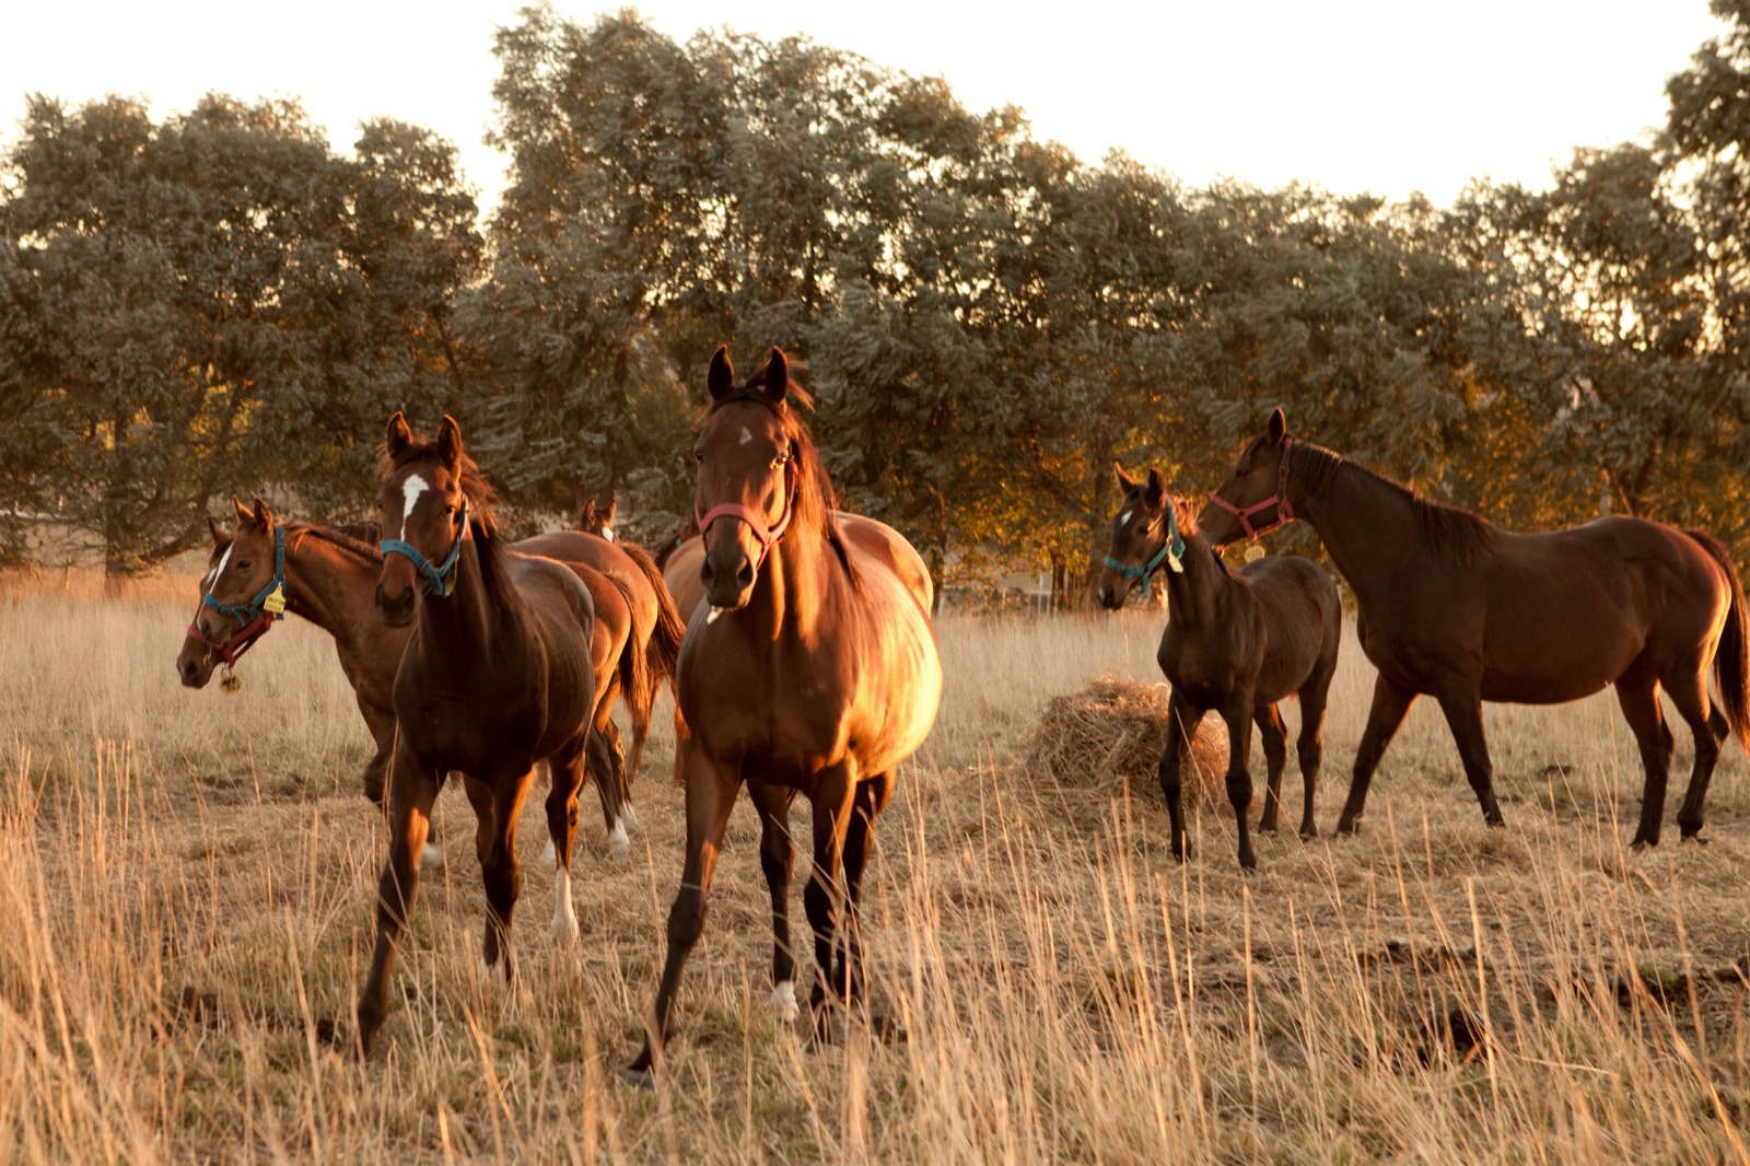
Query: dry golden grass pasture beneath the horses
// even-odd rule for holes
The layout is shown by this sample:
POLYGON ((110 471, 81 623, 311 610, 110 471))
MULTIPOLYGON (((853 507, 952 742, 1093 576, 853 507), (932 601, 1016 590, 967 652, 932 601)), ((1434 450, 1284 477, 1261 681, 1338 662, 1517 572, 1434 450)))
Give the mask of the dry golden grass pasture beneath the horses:
MULTIPOLYGON (((1678 844, 1678 730, 1664 844, 1631 853, 1642 770, 1608 693, 1489 709, 1505 830, 1482 825, 1424 702, 1358 837, 1262 835, 1242 875, 1225 805, 1188 798, 1178 867, 1152 783, 1024 767, 1048 697, 1158 679, 1160 616, 948 618, 942 718, 880 821, 864 905, 873 1005, 903 1038, 854 1024, 814 1050, 765 1010, 744 798, 672 1082, 648 1094, 620 1070, 681 867, 665 728, 630 863, 607 861, 584 793, 570 949, 548 933, 530 802, 509 994, 476 973, 472 818, 444 791, 448 868, 420 888, 396 1008, 359 1064, 345 1042, 385 844, 327 637, 287 622, 240 693, 187 692, 172 660, 192 581, 116 602, 4 587, 7 1161, 1746 1159, 1750 763, 1727 748, 1712 844, 1678 844)), ((1372 685, 1353 632, 1344 655, 1326 833, 1372 685)), ((803 851, 798 938, 805 870, 803 851)))

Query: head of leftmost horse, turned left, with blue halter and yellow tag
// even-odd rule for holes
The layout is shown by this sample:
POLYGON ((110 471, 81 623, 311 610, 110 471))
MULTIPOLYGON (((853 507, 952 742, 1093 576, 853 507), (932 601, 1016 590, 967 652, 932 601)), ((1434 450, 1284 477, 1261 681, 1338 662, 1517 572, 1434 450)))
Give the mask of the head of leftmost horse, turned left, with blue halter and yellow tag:
POLYGON ((201 576, 201 601, 177 655, 177 676, 205 688, 220 660, 231 664, 285 611, 285 534, 259 497, 248 508, 234 497, 236 529, 206 520, 214 550, 201 576), (273 594, 278 590, 278 599, 273 594))

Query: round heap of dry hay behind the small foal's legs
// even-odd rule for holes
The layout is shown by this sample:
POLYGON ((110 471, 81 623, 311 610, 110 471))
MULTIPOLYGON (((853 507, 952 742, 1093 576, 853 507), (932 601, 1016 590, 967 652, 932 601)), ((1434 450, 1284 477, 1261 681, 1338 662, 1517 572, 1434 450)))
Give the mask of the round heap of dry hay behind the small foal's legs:
MULTIPOLYGON (((1066 788, 1160 797, 1160 751, 1167 746, 1166 685, 1104 676, 1078 693, 1054 697, 1027 749, 1027 772, 1066 788)), ((1227 728, 1206 716, 1181 767, 1185 805, 1227 805, 1227 728)))

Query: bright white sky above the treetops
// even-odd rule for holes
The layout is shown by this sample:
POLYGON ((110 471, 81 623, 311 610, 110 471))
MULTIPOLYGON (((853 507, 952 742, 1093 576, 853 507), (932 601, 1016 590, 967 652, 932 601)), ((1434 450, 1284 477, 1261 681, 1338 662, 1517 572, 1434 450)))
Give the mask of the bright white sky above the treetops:
MULTIPOLYGON (((520 0, 299 4, 37 0, 10 5, 0 126, 26 93, 152 100, 210 89, 299 96, 350 149, 388 114, 457 142, 483 201, 502 158, 492 33, 520 0)), ((607 5, 556 0, 586 21, 607 5)), ((700 26, 807 33, 948 79, 971 109, 1020 105, 1040 137, 1088 161, 1122 147, 1186 182, 1302 179, 1339 193, 1451 201, 1470 177, 1542 186, 1575 145, 1664 121, 1664 79, 1722 26, 1706 0, 1152 0, 952 4, 648 0, 676 39, 700 26)))

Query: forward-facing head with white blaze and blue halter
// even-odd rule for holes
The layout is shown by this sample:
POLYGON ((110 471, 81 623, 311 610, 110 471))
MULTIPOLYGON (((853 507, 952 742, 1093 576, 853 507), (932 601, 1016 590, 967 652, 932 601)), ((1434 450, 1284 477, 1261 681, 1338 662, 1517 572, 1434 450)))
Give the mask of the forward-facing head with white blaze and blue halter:
POLYGON ((376 615, 390 627, 413 623, 416 588, 446 597, 467 537, 466 480, 472 462, 462 453, 462 427, 444 417, 436 441, 415 441, 399 411, 383 439, 388 464, 376 492, 383 534, 383 574, 376 579, 376 615))

